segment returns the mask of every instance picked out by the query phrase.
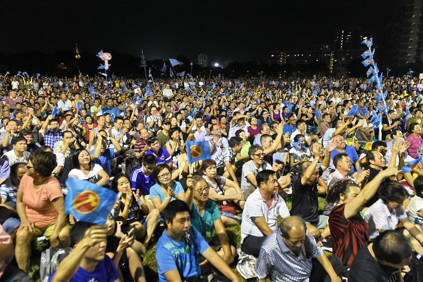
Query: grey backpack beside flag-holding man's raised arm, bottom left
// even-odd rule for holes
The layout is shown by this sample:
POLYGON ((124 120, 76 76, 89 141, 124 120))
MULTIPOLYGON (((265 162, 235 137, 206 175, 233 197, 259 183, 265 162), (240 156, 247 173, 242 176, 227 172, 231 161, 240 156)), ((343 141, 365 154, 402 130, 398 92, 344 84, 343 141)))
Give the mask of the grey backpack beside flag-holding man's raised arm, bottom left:
POLYGON ((54 248, 50 247, 41 253, 40 278, 41 282, 47 282, 50 275, 57 269, 60 262, 72 252, 71 247, 54 248))

